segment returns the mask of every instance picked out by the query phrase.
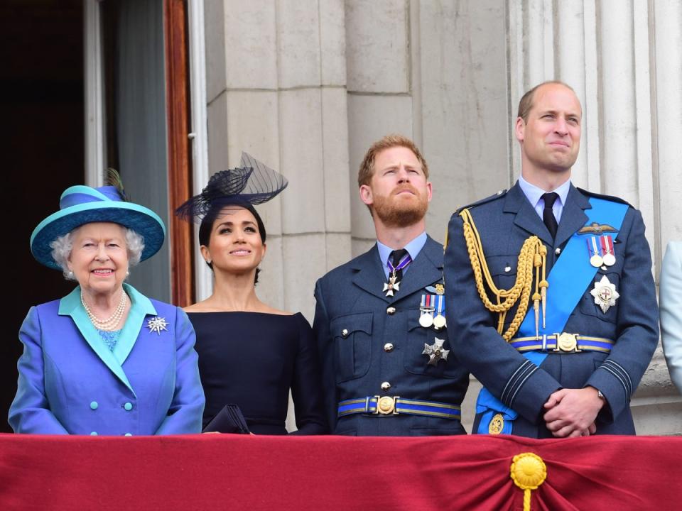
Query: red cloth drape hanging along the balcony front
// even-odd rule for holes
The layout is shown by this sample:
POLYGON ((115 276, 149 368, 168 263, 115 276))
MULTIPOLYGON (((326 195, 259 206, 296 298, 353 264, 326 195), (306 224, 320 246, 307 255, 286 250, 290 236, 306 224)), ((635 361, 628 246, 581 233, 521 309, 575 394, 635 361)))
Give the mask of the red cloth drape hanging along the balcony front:
POLYGON ((0 435, 0 510, 682 509, 682 437, 0 435))

